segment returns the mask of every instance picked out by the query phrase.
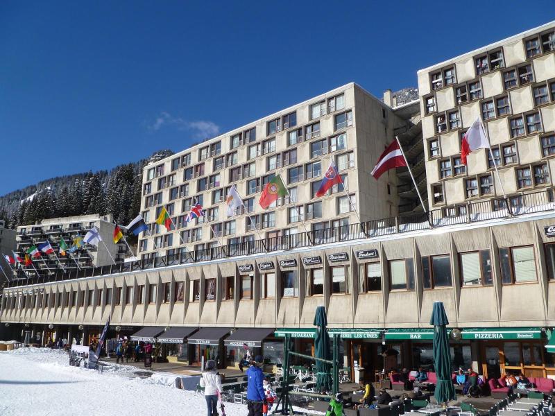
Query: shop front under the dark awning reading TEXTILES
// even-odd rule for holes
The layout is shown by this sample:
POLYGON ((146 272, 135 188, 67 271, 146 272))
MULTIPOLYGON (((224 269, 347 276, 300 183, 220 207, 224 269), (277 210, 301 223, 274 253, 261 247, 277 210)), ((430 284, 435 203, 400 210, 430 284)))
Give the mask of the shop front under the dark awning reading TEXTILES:
POLYGON ((232 328, 203 328, 189 336, 187 340, 189 365, 201 365, 208 360, 216 361, 218 368, 225 367, 225 349, 223 338, 232 328))

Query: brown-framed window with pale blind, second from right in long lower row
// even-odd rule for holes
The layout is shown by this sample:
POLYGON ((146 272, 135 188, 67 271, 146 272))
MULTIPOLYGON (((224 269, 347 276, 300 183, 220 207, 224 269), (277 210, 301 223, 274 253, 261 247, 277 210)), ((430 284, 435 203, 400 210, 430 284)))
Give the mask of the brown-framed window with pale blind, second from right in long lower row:
POLYGON ((536 281, 536 260, 533 246, 499 248, 503 284, 536 281))

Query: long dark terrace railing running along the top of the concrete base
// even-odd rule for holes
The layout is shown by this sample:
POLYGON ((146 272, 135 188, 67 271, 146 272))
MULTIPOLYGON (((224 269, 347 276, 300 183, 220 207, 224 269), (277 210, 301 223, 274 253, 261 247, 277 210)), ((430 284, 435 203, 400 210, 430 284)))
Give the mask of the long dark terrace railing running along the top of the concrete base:
MULTIPOLYGON (((497 220, 500 218, 511 218, 524 214, 536 212, 554 211, 554 191, 539 191, 507 199, 497 198, 469 202, 466 205, 458 205, 456 209, 433 209, 420 214, 404 214, 397 217, 370 220, 360 224, 350 224, 341 227, 332 227, 304 232, 289 236, 278 236, 268 239, 248 241, 245 243, 228 244, 215 248, 203 250, 181 251, 167 257, 157 257, 155 261, 146 259, 128 263, 118 263, 112 266, 89 267, 81 270, 68 270, 62 272, 60 268, 50 271, 46 269, 14 270, 14 280, 9 286, 22 286, 40 283, 42 281, 57 281, 65 279, 76 279, 80 277, 92 277, 120 273, 134 270, 144 270, 167 266, 168 264, 198 263, 214 259, 225 259, 230 257, 245 256, 250 254, 269 253, 278 250, 291 250, 293 248, 314 247, 321 244, 343 243, 369 239, 377 236, 386 236, 412 232, 418 230, 436 229, 449 225, 460 225, 467 223, 478 223, 480 221, 497 220)), ((259 223, 260 224, 260 223, 259 223)), ((249 228, 249 227, 247 227, 249 228)), ((200 239, 200 238, 199 238, 200 239)), ((196 241, 193 237, 187 242, 196 241)), ((81 257, 79 262, 92 265, 87 257, 81 257)))

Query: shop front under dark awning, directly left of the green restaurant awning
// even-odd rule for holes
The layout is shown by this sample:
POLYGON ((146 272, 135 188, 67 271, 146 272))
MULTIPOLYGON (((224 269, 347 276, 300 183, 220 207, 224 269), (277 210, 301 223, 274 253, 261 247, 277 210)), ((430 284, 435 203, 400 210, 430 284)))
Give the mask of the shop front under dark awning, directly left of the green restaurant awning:
MULTIPOLYGON (((271 340, 266 340, 269 336, 273 334, 273 328, 239 328, 234 331, 228 338, 225 339, 223 345, 225 345, 225 365, 228 367, 238 367, 239 362, 243 359, 246 354, 246 349, 249 350, 250 355, 255 358, 257 355, 264 356, 264 360, 267 363, 271 362, 271 357, 273 359, 279 359, 280 357, 275 357, 279 355, 279 349, 275 349, 276 345, 271 344, 271 340), (268 353, 264 354, 263 345, 267 344, 270 346, 268 353)), ((279 342, 282 345, 281 358, 283 358, 283 342, 279 342)))

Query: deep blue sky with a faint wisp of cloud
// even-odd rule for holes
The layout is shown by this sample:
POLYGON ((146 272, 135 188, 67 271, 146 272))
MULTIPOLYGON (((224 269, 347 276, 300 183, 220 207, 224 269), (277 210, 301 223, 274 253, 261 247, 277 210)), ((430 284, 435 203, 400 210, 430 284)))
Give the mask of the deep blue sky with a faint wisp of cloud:
POLYGON ((189 144, 555 19, 553 1, 1 1, 0 195, 189 144))

